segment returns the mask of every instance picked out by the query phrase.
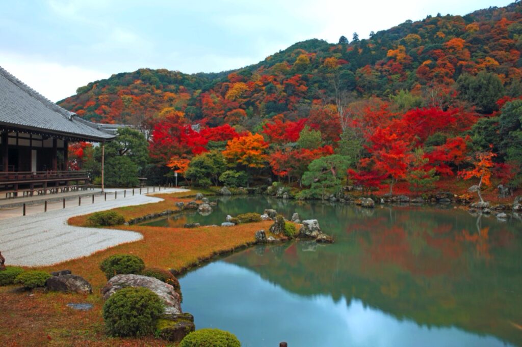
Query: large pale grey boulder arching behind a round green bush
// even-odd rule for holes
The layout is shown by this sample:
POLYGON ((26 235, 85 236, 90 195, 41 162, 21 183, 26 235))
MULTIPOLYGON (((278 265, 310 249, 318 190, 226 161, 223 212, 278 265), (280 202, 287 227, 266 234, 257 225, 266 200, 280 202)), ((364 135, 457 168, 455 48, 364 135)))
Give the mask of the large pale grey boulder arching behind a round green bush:
POLYGON ((166 315, 173 316, 182 313, 180 294, 176 293, 174 287, 170 284, 153 277, 141 275, 116 275, 101 289, 103 299, 109 299, 117 290, 126 287, 143 287, 155 292, 165 305, 164 313, 166 315))

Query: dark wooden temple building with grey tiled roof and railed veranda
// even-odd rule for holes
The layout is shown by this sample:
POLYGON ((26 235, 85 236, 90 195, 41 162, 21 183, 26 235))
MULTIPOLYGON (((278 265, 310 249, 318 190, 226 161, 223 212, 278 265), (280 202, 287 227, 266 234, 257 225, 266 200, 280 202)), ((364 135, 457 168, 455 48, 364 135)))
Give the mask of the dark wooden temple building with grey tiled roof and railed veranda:
POLYGON ((79 178, 85 182, 86 173, 67 171, 68 144, 103 145, 115 138, 116 130, 81 119, 0 67, 0 194, 47 193, 79 178))

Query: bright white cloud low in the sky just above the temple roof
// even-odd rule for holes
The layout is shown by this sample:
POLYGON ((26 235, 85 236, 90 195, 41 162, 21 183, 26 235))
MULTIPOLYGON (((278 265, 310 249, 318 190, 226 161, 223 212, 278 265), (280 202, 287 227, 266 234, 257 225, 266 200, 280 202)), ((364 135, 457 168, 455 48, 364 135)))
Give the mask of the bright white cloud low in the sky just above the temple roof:
POLYGON ((38 57, 27 58, 0 52, 0 64, 9 73, 56 102, 76 93, 76 89, 89 82, 108 78, 106 73, 74 65, 60 65, 38 57))

